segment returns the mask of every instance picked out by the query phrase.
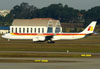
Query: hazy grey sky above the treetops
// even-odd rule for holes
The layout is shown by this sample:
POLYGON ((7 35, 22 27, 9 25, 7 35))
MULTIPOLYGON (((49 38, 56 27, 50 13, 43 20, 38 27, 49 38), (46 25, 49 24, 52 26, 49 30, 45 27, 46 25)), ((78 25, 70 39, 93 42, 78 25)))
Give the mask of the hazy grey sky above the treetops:
POLYGON ((34 5, 37 8, 47 7, 50 4, 62 3, 75 9, 91 9, 95 6, 100 6, 100 0, 0 0, 0 9, 12 9, 15 5, 20 5, 22 2, 34 5))

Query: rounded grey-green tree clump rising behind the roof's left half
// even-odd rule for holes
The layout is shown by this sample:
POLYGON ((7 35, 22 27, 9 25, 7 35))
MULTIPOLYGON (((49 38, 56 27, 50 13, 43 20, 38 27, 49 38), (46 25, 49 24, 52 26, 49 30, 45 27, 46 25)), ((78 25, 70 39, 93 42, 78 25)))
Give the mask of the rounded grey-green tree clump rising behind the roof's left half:
POLYGON ((36 9, 35 6, 30 6, 28 3, 23 2, 20 5, 14 6, 6 19, 9 21, 13 21, 13 19, 30 19, 32 18, 32 13, 36 9))

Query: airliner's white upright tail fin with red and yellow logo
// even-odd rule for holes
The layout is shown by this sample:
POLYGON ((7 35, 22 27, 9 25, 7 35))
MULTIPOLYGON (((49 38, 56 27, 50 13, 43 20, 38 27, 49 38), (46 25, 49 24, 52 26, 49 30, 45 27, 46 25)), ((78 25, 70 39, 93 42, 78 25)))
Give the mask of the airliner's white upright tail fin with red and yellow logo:
POLYGON ((96 25, 97 21, 92 21, 85 30, 83 30, 81 33, 86 33, 86 34, 91 34, 93 33, 94 29, 95 29, 95 25, 96 25))

